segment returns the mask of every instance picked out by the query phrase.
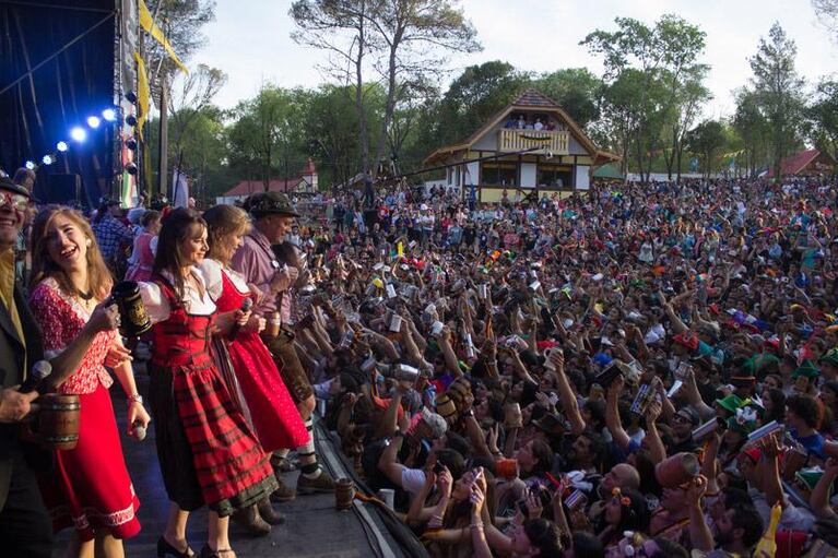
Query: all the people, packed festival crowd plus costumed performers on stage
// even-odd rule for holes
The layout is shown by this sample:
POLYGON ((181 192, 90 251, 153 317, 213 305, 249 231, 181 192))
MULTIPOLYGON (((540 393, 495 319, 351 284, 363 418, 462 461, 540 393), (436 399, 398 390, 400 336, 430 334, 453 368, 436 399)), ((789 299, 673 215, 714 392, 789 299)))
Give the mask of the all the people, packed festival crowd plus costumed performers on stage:
POLYGON ((295 496, 276 472, 333 490, 318 406, 432 556, 838 556, 836 186, 601 185, 494 205, 397 189, 366 212, 368 192, 347 194, 319 225, 295 225, 278 193, 130 224, 106 202, 91 228, 2 181, 3 541, 49 556, 72 525, 76 555, 96 539, 120 556, 137 534, 116 377, 173 502, 160 556, 191 556, 203 506, 201 556, 233 556, 231 517, 269 532, 295 496), (153 323, 150 414, 115 331, 122 274, 153 323), (38 390, 93 409, 46 474, 19 436, 36 393, 15 388, 42 358, 38 390))

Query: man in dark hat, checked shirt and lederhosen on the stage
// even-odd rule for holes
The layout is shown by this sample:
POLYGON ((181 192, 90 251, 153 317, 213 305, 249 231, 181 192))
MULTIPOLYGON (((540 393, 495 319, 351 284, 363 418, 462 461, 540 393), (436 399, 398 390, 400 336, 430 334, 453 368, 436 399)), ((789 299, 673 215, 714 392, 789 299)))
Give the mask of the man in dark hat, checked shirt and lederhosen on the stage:
MULTIPOLYGON (((288 328, 292 314, 292 296, 295 283, 299 278, 299 269, 287 261, 280 261, 272 248, 285 241, 285 235, 291 230, 294 218, 299 215, 288 200, 279 192, 260 192, 251 195, 245 202, 253 217, 253 228, 245 237, 244 246, 233 257, 233 268, 241 273, 251 289, 262 296, 253 307, 253 311, 265 318, 269 323, 279 314, 282 327, 279 335, 271 335, 271 328, 263 336, 265 345, 276 361, 282 379, 297 405, 297 409, 306 424, 309 435, 312 431, 311 413, 315 409, 315 391, 303 369, 294 348, 294 333, 288 328)), ((317 462, 314 438, 308 443, 297 448, 300 463, 300 475, 297 490, 303 494, 334 490, 334 480, 317 462)), ((272 463, 279 468, 287 451, 275 452, 272 463)), ((281 484, 273 499, 287 501, 294 498, 294 491, 281 484)))

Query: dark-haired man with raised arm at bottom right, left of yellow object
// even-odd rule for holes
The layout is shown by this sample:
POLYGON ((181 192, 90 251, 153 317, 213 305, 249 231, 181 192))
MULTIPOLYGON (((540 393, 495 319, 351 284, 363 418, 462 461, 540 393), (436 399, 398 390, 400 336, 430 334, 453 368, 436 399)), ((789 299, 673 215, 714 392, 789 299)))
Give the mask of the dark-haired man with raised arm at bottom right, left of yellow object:
POLYGON ((763 519, 752 506, 736 504, 724 510, 710 531, 701 509, 707 478, 699 476, 685 491, 689 514, 689 541, 696 558, 737 558, 751 556, 763 536, 763 519))

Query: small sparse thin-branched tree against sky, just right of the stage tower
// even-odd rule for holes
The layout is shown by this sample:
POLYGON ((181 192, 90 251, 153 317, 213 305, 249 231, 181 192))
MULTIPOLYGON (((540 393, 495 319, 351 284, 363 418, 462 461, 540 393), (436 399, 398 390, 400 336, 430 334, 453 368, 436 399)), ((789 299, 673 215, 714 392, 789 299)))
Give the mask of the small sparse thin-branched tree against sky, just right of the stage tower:
POLYGON ((176 82, 168 97, 169 138, 174 146, 174 153, 181 152, 184 138, 191 133, 194 123, 203 109, 212 104, 219 91, 227 83, 227 74, 216 68, 199 64, 198 68, 184 76, 182 81, 176 82))

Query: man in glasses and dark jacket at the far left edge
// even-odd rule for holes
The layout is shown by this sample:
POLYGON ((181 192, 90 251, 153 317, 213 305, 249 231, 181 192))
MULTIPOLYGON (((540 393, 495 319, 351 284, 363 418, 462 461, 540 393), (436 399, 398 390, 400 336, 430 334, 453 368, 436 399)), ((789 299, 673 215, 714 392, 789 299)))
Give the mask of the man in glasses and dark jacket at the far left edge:
POLYGON ((20 439, 37 392, 20 393, 25 370, 43 358, 40 332, 15 282, 14 245, 26 219, 28 190, 0 178, 0 541, 3 554, 48 558, 52 529, 20 439))

